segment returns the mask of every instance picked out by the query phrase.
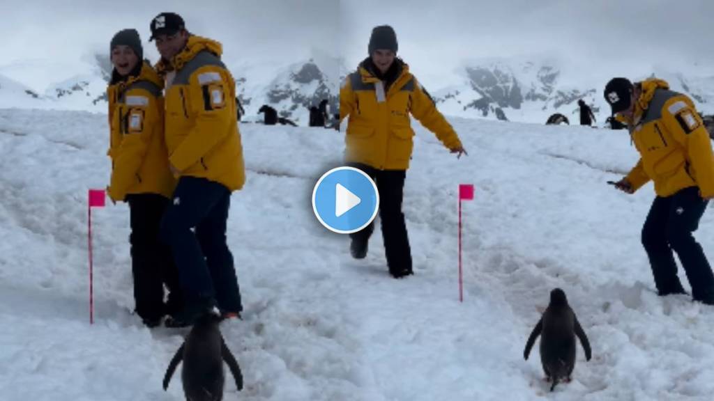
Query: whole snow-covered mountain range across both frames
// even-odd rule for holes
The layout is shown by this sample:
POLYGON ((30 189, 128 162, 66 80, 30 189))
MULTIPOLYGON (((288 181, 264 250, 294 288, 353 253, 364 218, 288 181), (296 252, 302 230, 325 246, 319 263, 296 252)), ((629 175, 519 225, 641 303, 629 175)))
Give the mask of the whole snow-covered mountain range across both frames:
MULTIPOLYGON (((0 66, 0 106, 106 111, 106 82, 111 73, 108 55, 94 54, 83 61, 71 70, 41 61, 0 66), (38 75, 43 78, 38 80, 38 75), (56 80, 52 80, 54 76, 56 80)), ((323 99, 328 100, 331 113, 338 110, 339 82, 354 69, 343 59, 318 51, 291 63, 238 59, 226 64, 236 78, 238 98, 246 110, 243 121, 261 120, 258 109, 268 104, 301 126, 308 123, 309 107, 323 99)), ((691 96, 700 111, 714 113, 713 75, 656 66, 640 71, 645 72, 630 78, 663 78, 673 90, 691 96)), ((597 123, 602 125, 610 111, 601 91, 612 77, 556 58, 482 59, 465 61, 454 76, 428 80, 427 86, 438 108, 450 116, 544 123, 551 114, 562 113, 577 123, 577 101, 583 98, 593 106, 597 123)))

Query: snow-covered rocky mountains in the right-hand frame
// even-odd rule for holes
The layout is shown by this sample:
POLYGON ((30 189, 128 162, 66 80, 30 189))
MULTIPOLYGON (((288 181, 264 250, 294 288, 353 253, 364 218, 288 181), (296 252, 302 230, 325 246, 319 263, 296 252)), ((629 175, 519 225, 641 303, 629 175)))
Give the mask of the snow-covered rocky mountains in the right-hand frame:
MULTIPOLYGON (((700 111, 714 111, 714 76, 651 68, 640 76, 663 78, 675 91, 687 93, 700 111)), ((553 113, 578 121, 578 99, 593 107, 598 123, 610 108, 602 98, 605 83, 613 75, 590 71, 555 59, 491 59, 471 61, 456 71, 460 83, 433 92, 443 113, 468 118, 491 118, 545 123, 553 113)))

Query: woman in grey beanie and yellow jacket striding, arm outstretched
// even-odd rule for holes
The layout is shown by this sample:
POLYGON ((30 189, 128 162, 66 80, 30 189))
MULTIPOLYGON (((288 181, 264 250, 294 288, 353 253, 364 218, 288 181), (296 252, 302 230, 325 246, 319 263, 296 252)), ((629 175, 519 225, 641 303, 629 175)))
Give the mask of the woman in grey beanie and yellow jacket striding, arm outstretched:
MULTIPOLYGON (((396 58, 396 34, 391 26, 376 26, 368 45, 369 57, 349 74, 340 88, 340 120, 349 116, 346 162, 360 168, 377 184, 379 215, 389 273, 394 278, 413 274, 411 249, 402 213, 406 170, 416 117, 451 150, 466 153, 456 132, 436 109, 431 96, 396 58)), ((351 253, 364 258, 373 225, 351 234, 351 253)))

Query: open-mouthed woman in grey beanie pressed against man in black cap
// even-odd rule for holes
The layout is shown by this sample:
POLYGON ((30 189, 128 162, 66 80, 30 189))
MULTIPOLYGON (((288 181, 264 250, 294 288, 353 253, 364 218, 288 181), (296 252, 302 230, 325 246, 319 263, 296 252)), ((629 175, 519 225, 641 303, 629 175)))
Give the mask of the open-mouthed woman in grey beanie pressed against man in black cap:
POLYGON ((182 308, 182 297, 171 249, 159 241, 161 218, 176 186, 164 141, 163 84, 142 56, 136 30, 124 29, 111 39, 114 70, 107 95, 112 171, 107 193, 115 203, 129 203, 136 313, 154 327, 182 308), (166 303, 164 284, 169 289, 166 303))

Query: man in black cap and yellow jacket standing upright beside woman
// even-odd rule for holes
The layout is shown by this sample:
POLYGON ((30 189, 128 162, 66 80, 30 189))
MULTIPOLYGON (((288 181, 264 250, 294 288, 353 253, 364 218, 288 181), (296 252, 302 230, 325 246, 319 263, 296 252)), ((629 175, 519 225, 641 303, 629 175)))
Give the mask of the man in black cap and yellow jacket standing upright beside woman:
POLYGON ((224 318, 239 317, 241 294, 226 243, 231 192, 245 182, 236 83, 221 62, 221 44, 189 34, 178 14, 156 16, 151 39, 161 54, 166 146, 178 177, 161 237, 174 251, 186 301, 166 325, 191 325, 216 306, 224 318))

